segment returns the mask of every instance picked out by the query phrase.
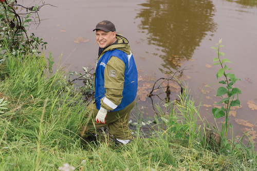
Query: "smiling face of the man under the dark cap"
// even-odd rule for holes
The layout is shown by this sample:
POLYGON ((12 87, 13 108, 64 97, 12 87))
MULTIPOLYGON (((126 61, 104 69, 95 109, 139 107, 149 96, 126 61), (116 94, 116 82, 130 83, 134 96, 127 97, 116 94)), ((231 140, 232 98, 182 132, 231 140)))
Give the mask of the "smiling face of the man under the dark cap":
POLYGON ((96 30, 96 41, 100 48, 105 48, 112 45, 115 41, 116 32, 105 32, 103 30, 96 30))

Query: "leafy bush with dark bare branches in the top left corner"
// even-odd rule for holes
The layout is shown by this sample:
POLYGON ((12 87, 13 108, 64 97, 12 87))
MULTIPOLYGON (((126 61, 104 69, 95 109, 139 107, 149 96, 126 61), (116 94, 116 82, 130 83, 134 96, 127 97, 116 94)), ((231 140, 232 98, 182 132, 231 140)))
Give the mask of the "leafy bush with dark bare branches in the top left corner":
MULTIPOLYGON (((43 39, 39 39, 33 33, 28 35, 27 30, 31 23, 40 24, 38 11, 45 4, 24 7, 16 3, 17 1, 13 0, 0 3, 1 51, 9 51, 13 55, 19 52, 40 54, 40 47, 43 50, 46 48, 47 43, 43 42, 43 39)), ((6 56, 2 56, 2 58, 5 59, 6 56)))

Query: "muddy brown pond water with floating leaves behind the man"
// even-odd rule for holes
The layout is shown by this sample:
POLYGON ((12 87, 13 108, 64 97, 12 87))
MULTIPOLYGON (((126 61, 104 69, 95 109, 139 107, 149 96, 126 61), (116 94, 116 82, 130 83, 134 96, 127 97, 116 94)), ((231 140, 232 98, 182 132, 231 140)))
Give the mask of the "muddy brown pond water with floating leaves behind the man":
MULTIPOLYGON (((30 6, 39 2, 23 1, 30 6)), ((130 41, 139 73, 138 107, 144 117, 154 115, 152 101, 145 95, 153 80, 168 77, 167 71, 185 69, 183 78, 196 105, 205 85, 217 88, 219 67, 211 66, 216 52, 210 47, 223 39, 221 51, 232 61, 227 65, 241 79, 234 85, 242 90, 241 108, 231 115, 234 135, 250 131, 257 142, 257 1, 45 1, 48 3, 56 7, 44 6, 39 12, 40 26, 31 26, 30 32, 48 42, 45 53, 52 52, 56 68, 60 60, 69 71, 82 73, 83 66, 95 66, 98 46, 92 30, 102 20, 112 21, 117 33, 130 41)), ((201 99, 202 118, 214 123, 211 109, 217 101, 215 90, 207 89, 201 99)), ((162 105, 158 98, 154 103, 162 105)), ((220 125, 223 120, 216 122, 220 125)))

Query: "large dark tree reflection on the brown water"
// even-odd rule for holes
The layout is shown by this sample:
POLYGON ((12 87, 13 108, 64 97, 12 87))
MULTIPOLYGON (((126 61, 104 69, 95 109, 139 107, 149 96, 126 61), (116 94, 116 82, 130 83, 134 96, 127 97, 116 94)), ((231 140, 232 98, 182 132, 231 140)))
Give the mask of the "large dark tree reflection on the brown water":
POLYGON ((181 62, 189 60, 207 33, 214 32, 215 12, 212 1, 148 0, 137 14, 142 32, 148 43, 158 46, 154 55, 163 60, 167 70, 178 69, 181 62))

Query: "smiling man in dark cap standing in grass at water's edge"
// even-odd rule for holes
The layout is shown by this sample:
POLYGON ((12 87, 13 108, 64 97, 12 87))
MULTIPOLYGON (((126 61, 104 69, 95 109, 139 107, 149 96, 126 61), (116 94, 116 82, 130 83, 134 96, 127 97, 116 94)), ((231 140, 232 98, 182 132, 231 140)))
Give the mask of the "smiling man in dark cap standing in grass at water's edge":
MULTIPOLYGON (((88 120, 82 131, 96 134, 96 129, 108 126, 116 143, 127 144, 132 135, 128 128, 137 93, 137 68, 128 41, 116 34, 110 21, 102 21, 93 30, 99 45, 96 65, 95 101, 87 109, 88 120), (94 127, 94 131, 89 129, 94 127)), ((94 137, 94 136, 93 136, 94 137)))

